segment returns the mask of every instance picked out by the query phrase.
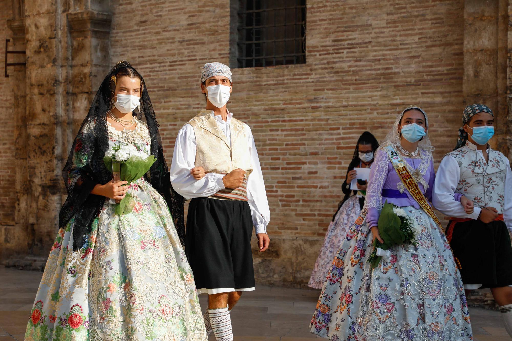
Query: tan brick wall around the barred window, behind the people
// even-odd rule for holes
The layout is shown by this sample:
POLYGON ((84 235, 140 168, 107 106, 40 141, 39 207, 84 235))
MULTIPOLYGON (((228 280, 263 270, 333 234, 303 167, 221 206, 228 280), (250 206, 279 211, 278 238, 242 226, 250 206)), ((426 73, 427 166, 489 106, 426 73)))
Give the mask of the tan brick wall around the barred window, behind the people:
MULTIPOLYGON (((267 187, 272 250, 254 255, 271 284, 307 283, 360 133, 381 141, 418 104, 438 163, 463 109, 462 1, 307 5, 306 64, 232 70, 228 109, 251 127, 267 187)), ((144 76, 170 163, 179 128, 204 105, 200 66, 229 62, 229 1, 112 8, 112 64, 127 59, 144 76)))

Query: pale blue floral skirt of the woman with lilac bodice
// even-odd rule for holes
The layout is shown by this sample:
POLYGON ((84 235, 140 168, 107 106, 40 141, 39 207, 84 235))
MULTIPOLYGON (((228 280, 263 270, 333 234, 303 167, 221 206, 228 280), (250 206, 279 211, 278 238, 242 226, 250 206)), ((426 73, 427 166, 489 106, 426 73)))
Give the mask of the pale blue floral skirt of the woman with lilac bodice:
POLYGON ((311 321, 333 341, 471 340, 464 287, 444 233, 423 210, 403 207, 421 226, 418 245, 390 249, 373 270, 366 210, 335 255, 311 321))

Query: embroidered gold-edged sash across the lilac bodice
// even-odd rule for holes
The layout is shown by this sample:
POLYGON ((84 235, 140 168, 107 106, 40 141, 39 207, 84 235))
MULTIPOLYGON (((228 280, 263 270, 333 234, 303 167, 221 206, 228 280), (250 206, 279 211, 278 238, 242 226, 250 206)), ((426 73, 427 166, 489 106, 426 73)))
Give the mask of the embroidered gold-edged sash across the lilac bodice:
POLYGON ((385 147, 384 149, 390 156, 391 163, 395 168, 396 174, 398 174, 398 177, 402 181, 403 185, 406 186, 407 190, 409 190, 411 197, 413 197, 414 200, 416 200, 418 203, 419 207, 421 207, 425 213, 428 214, 430 218, 436 222, 437 226, 439 226, 439 228, 444 231, 443 227, 441 226, 441 222, 434 212, 434 209, 432 209, 432 206, 429 204, 429 200, 426 199, 425 195, 419 188, 418 183, 416 180, 414 180, 411 173, 409 173, 406 162, 402 160, 400 155, 394 150, 392 146, 385 147))

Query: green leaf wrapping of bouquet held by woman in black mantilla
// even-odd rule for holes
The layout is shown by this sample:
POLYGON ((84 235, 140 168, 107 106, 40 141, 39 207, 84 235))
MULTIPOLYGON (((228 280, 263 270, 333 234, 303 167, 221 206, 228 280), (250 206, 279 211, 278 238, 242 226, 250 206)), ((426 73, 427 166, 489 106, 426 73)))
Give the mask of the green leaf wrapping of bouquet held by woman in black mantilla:
MULTIPOLYGON (((109 172, 112 173, 112 157, 105 156, 103 158, 103 162, 109 172)), ((132 182, 140 179, 150 170, 153 163, 155 163, 156 158, 153 155, 148 156, 143 159, 140 156, 132 156, 126 161, 121 161, 121 172, 120 172, 120 180, 127 181, 128 183, 124 186, 129 186, 132 182)), ((130 194, 126 194, 126 196, 121 199, 119 204, 116 205, 114 212, 117 215, 125 215, 130 213, 135 206, 135 200, 132 198, 130 194)))

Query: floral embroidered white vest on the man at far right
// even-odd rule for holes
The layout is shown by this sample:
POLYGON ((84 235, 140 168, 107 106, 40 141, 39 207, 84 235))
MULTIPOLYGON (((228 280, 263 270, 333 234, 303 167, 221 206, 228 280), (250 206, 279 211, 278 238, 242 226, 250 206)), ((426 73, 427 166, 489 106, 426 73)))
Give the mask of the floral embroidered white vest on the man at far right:
POLYGON ((489 148, 489 162, 477 153, 470 142, 449 153, 457 160, 460 168, 459 184, 455 193, 473 200, 475 206, 494 207, 503 213, 505 203, 505 176, 508 159, 498 151, 489 148))

